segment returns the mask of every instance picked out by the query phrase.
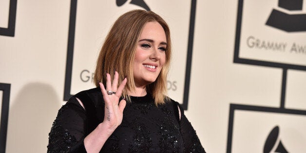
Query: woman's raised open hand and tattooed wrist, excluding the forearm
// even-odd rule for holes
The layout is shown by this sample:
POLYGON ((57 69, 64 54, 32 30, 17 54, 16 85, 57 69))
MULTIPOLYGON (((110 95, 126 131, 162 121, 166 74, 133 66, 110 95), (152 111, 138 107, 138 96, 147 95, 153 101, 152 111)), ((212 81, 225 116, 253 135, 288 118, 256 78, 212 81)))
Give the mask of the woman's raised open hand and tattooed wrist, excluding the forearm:
POLYGON ((105 101, 105 113, 103 123, 107 124, 109 130, 114 130, 121 124, 123 117, 123 109, 126 105, 126 101, 122 99, 119 102, 119 98, 127 82, 127 78, 124 78, 118 87, 118 72, 115 72, 113 83, 111 81, 111 75, 106 74, 106 89, 100 82, 100 88, 105 101))

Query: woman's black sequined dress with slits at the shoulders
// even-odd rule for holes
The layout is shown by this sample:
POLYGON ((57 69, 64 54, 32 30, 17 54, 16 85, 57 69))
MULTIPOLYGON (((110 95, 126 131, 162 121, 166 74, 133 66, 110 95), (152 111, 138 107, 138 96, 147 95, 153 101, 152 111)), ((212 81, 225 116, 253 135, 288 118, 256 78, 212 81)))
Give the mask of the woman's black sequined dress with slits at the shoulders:
MULTIPOLYGON (((179 119, 177 102, 171 100, 156 107, 150 94, 131 96, 131 101, 124 109, 122 123, 100 152, 205 153, 182 108, 179 119)), ((104 102, 100 88, 76 94, 58 111, 49 134, 48 153, 86 153, 84 137, 103 119, 104 102)))

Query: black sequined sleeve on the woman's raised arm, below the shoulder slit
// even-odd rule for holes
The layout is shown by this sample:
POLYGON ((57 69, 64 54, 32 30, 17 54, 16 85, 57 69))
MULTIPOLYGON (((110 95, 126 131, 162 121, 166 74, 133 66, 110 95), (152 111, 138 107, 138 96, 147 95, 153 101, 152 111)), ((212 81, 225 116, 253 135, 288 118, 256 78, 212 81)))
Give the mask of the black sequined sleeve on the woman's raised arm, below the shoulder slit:
POLYGON ((86 112, 75 97, 62 106, 49 133, 48 153, 86 153, 86 112))

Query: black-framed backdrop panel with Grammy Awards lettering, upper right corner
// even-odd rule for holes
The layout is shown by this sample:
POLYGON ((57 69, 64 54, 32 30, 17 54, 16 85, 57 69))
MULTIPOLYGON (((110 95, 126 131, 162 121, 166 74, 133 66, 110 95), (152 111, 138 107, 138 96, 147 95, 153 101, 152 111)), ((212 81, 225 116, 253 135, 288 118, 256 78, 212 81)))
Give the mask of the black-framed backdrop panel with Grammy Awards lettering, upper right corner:
POLYGON ((306 70, 305 38, 303 0, 239 0, 235 63, 306 70))

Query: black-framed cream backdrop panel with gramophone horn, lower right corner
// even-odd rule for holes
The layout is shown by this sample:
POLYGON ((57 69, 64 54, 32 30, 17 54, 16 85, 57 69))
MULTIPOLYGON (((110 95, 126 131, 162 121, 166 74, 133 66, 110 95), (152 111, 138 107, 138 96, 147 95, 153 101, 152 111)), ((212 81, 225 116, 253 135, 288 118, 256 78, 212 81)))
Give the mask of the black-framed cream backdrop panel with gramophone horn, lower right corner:
POLYGON ((306 111, 230 104, 227 153, 306 153, 306 111))

